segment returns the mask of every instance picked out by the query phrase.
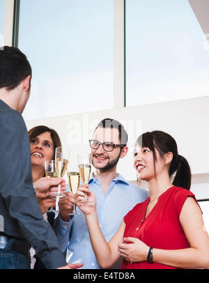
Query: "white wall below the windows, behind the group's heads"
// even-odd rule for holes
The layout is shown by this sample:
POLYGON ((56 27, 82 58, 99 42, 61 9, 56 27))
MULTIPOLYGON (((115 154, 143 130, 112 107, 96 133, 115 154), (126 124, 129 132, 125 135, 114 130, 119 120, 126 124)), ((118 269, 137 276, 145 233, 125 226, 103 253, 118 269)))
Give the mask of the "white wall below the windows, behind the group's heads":
POLYGON ((26 121, 26 126, 28 129, 36 125, 54 128, 59 133, 63 145, 70 144, 72 153, 75 154, 84 149, 88 150, 88 139, 91 138, 98 121, 107 117, 118 119, 129 135, 130 151, 118 164, 118 171, 127 180, 136 179, 132 167, 132 151, 137 137, 148 130, 164 130, 176 139, 179 154, 189 161, 194 181, 192 190, 195 190, 196 197, 209 198, 209 180, 201 181, 201 176, 209 176, 208 106, 209 96, 26 121), (198 190, 200 187, 201 192, 198 190))

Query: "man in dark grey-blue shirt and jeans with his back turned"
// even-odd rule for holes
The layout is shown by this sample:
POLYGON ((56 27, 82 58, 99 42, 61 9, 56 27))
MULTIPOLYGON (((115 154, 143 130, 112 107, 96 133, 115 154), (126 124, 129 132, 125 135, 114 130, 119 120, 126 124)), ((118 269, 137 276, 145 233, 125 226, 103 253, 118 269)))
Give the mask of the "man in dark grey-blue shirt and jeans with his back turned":
POLYGON ((47 268, 67 265, 56 235, 41 213, 36 191, 62 182, 40 178, 32 183, 29 136, 22 112, 31 89, 31 66, 15 47, 0 49, 0 268, 30 268, 32 246, 47 268))

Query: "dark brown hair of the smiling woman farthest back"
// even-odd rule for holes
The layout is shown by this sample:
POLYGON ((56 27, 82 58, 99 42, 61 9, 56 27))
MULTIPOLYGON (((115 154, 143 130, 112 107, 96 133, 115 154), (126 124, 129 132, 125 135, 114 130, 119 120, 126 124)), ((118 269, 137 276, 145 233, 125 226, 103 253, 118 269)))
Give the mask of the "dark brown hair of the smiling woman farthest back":
POLYGON ((55 157, 55 148, 61 146, 61 140, 59 138, 58 133, 56 132, 56 130, 53 130, 51 128, 48 128, 45 125, 38 125, 34 128, 32 128, 31 130, 29 130, 29 140, 31 142, 32 139, 34 139, 35 137, 38 137, 39 135, 43 134, 44 132, 50 132, 50 135, 52 137, 52 141, 54 144, 54 155, 53 155, 53 159, 55 157))

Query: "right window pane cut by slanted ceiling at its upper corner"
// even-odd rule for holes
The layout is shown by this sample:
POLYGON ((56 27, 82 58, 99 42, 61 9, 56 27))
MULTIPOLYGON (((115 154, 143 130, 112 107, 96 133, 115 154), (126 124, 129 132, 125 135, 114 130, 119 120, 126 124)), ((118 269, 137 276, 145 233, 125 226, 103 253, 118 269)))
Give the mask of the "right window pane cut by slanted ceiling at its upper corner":
POLYGON ((209 93, 209 50, 189 1, 126 1, 126 105, 209 93))

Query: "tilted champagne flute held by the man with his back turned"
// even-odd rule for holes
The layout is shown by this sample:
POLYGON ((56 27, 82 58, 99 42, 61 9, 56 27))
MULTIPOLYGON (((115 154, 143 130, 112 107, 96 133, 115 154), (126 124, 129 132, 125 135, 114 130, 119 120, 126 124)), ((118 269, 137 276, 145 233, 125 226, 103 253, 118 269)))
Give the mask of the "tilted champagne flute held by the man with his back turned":
MULTIPOLYGON (((63 178, 68 168, 68 158, 70 151, 68 148, 59 146, 55 149, 55 163, 56 163, 56 174, 58 178, 63 178)), ((51 194, 52 199, 60 200, 66 199, 65 194, 61 193, 61 184, 58 185, 58 192, 51 194)))

